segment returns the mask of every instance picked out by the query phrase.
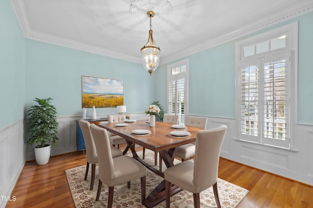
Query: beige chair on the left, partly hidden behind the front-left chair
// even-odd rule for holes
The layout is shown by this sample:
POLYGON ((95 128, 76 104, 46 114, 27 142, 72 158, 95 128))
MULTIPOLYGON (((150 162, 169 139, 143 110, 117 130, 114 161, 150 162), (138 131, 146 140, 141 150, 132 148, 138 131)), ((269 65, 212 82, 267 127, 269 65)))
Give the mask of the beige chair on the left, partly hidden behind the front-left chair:
MULTIPOLYGON (((98 155, 96 151, 96 147, 94 145, 94 141, 90 132, 90 123, 83 119, 78 121, 79 127, 82 130, 85 146, 86 146, 86 157, 87 157, 87 165, 86 165, 86 173, 85 173, 85 181, 87 180, 89 164, 91 164, 91 181, 90 181, 90 190, 93 189, 94 184, 94 175, 96 170, 96 164, 98 163, 98 155)), ((111 146, 112 157, 119 157, 123 155, 123 152, 118 150, 117 148, 111 146)))

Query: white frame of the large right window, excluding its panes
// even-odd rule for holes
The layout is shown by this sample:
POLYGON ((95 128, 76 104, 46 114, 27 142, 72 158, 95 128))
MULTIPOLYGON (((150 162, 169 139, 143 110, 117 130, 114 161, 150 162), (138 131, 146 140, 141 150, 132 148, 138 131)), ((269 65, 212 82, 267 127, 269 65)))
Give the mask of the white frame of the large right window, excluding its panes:
MULTIPOLYGON (((268 146, 274 146, 274 147, 279 147, 279 148, 284 148, 284 149, 297 149, 297 140, 296 140, 296 124, 297 124, 297 57, 298 57, 298 22, 293 22, 290 24, 287 24, 285 26, 282 27, 278 27, 276 29, 270 30, 268 32, 265 33, 261 33, 259 35, 255 35, 251 38, 246 38, 243 40, 240 40, 238 42, 235 43, 235 85, 236 85, 236 90, 235 90, 235 98, 236 98, 236 102, 235 102, 235 119, 236 119, 236 123, 238 124, 236 129, 237 129, 237 133, 236 136, 234 137, 234 139, 237 140, 242 140, 242 141, 247 141, 247 142, 253 142, 253 143, 258 143, 258 144, 262 144, 262 145, 268 145, 268 146), (280 48, 280 49, 276 49, 276 50, 272 50, 272 51, 268 51, 265 53, 261 53, 261 54, 255 54, 253 56, 248 56, 248 57, 244 57, 244 47, 249 46, 249 45, 253 45, 253 44, 257 44, 263 41, 266 41, 268 39, 272 39, 272 38, 276 38, 276 37, 280 37, 286 35, 286 47, 284 48, 280 48), (286 83, 288 85, 288 96, 286 97, 286 101, 289 102, 289 115, 288 116, 288 121, 290 122, 288 125, 289 128, 289 135, 288 135, 288 144, 284 143, 284 144, 279 144, 277 142, 268 142, 268 138, 264 137, 264 133, 263 133, 263 129, 258 130, 258 137, 260 137, 260 139, 255 139, 252 138, 253 136, 246 136, 241 133, 241 63, 243 62, 249 62, 252 60, 256 60, 256 59, 264 59, 267 57, 271 57, 271 56, 276 56, 278 54, 282 54, 282 53, 289 53, 289 62, 290 62, 290 74, 288 75, 288 83, 286 83)), ((260 61, 261 63, 261 61, 260 61)), ((260 66, 260 70, 263 70, 264 66, 260 66)), ((263 75, 263 73, 262 73, 263 75)), ((262 77, 261 79, 262 80, 262 77)), ((263 82, 263 81, 262 81, 263 82)), ((258 96, 263 96, 263 83, 262 86, 259 86, 259 88, 261 88, 262 90, 262 94, 258 95, 258 96)), ((258 105, 264 105, 264 103, 259 103, 258 105)), ((260 108, 259 108, 260 109, 260 108)), ((263 109, 263 107, 261 108, 263 109)), ((259 113, 259 119, 258 122, 261 123, 261 125, 263 126, 263 112, 258 111, 259 113)), ((274 139, 275 140, 275 139, 274 139)))

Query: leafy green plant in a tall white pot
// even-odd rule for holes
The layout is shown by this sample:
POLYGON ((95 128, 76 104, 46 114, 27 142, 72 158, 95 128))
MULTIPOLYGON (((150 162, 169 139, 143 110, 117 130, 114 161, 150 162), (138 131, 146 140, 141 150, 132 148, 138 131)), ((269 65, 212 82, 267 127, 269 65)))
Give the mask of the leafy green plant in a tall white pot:
POLYGON ((57 137, 58 122, 56 119, 56 108, 50 104, 51 97, 39 99, 36 97, 34 105, 28 110, 27 144, 37 144, 35 147, 35 158, 38 165, 45 165, 50 158, 51 145, 55 145, 57 137))

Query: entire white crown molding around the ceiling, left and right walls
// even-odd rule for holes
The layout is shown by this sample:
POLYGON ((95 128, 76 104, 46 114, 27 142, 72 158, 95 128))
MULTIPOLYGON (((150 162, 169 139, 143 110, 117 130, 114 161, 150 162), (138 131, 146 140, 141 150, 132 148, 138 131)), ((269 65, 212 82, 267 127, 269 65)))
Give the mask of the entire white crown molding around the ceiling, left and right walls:
MULTIPOLYGON (((20 26, 22 28, 22 32, 25 38, 38 40, 38 41, 42 41, 46 43, 51 43, 55 45, 60 45, 60 46, 64 46, 67 48, 72 48, 72 49, 76 49, 80 51, 98 54, 101 56, 113 57, 113 58, 118 58, 118 59, 131 61, 135 63, 141 63, 141 59, 139 57, 129 56, 129 55, 125 55, 122 53, 118 53, 116 51, 103 49, 100 47, 84 44, 84 43, 77 42, 77 41, 72 41, 66 38, 55 37, 55 36, 51 36, 48 34, 39 33, 37 31, 32 31, 30 29, 28 21, 24 21, 24 20, 27 20, 28 18, 24 10, 25 6, 23 4, 23 1, 11 0, 11 3, 12 3, 13 9, 20 23, 20 26)), ((270 17, 266 17, 265 19, 260 19, 257 22, 252 22, 251 24, 238 28, 236 31, 231 31, 227 34, 224 34, 217 38, 212 38, 194 47, 187 48, 186 50, 183 50, 172 56, 162 58, 160 60, 160 65, 175 61, 182 57, 186 57, 186 56, 201 52, 203 50, 212 48, 214 46, 223 44, 225 42, 231 41, 236 38, 246 36, 248 34, 257 32, 259 30, 265 29, 267 27, 273 26, 280 22, 304 15, 312 11, 313 11, 312 2, 310 4, 308 4, 307 2, 302 3, 302 4, 297 4, 296 7, 288 8, 287 10, 283 10, 280 13, 276 13, 275 16, 270 16, 270 17)))

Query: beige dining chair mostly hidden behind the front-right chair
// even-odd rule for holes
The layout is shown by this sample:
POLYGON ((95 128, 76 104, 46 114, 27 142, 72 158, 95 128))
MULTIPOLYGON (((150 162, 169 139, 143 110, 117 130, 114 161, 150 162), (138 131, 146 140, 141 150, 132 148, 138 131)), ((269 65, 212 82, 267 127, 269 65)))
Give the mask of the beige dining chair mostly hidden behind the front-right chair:
MULTIPOLYGON (((207 117, 201 116, 186 116, 185 126, 197 127, 206 129, 207 117)), ((187 130, 188 131, 188 130, 187 130)), ((181 161, 190 159, 195 155, 196 144, 195 142, 181 145, 176 148, 175 156, 181 158, 181 161)))

